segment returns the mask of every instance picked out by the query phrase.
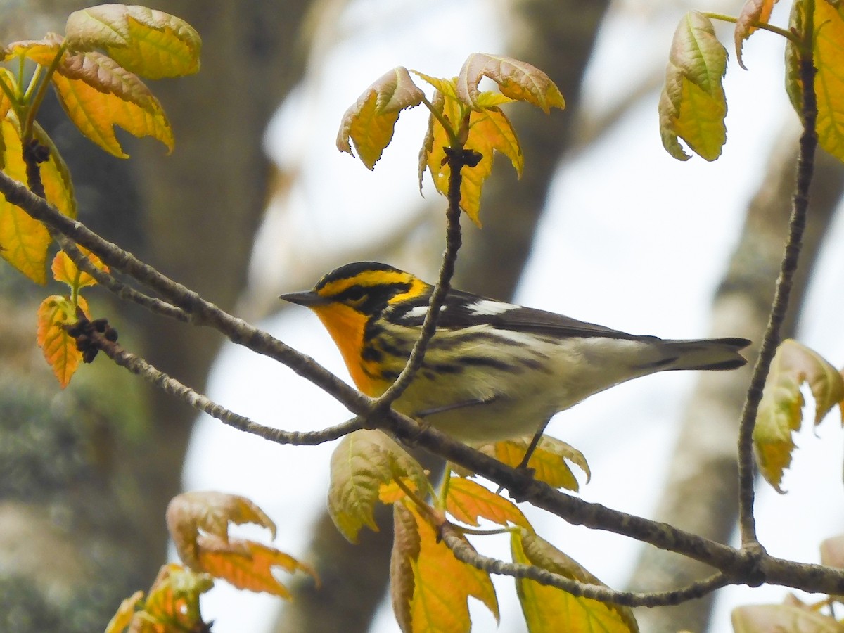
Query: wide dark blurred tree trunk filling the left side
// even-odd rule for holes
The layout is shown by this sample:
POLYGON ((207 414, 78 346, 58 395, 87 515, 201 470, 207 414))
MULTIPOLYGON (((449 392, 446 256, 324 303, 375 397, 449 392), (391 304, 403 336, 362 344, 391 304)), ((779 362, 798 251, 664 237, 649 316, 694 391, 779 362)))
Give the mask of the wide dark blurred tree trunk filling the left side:
MULTIPOLYGON (((61 30, 68 12, 87 4, 46 3, 56 12, 51 28, 61 30)), ((73 172, 80 218, 224 308, 243 286, 264 207, 263 129, 303 68, 297 45, 307 5, 155 4, 203 38, 200 73, 151 86, 176 134, 169 157, 149 138, 129 139, 133 159, 123 162, 61 117, 51 125, 73 172)), ((180 490, 195 412, 106 359, 82 368, 60 393, 34 349, 36 302, 23 298, 33 297, 30 284, 16 274, 7 267, 0 275, 8 303, 0 347, 0 630, 103 630, 120 600, 149 587, 165 560, 165 506, 180 490)), ((47 294, 35 293, 35 301, 47 294)), ((203 388, 219 336, 106 305, 104 295, 89 293, 92 308, 116 323, 129 349, 203 388)))

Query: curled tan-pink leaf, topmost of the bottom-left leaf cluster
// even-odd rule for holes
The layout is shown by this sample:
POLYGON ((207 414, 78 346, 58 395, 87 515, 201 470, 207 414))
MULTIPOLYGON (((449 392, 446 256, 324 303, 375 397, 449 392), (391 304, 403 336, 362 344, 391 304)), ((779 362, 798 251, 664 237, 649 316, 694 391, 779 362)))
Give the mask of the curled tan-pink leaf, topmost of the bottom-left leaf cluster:
POLYGON ((252 500, 222 492, 183 492, 167 505, 167 530, 179 558, 189 567, 202 571, 197 556, 197 537, 211 534, 223 541, 229 538, 229 523, 254 523, 266 527, 275 538, 275 523, 252 500))

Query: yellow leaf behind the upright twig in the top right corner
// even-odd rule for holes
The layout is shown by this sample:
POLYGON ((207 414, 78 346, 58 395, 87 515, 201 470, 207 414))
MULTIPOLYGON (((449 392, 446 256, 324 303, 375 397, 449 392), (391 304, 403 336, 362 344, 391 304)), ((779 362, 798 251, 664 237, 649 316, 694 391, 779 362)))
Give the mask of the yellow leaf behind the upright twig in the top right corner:
MULTIPOLYGON (((796 0, 789 27, 802 33, 806 6, 796 0)), ((844 160, 844 7, 819 0, 814 3, 814 90, 818 100, 816 131, 820 147, 844 160)), ((800 54, 792 41, 786 43, 786 92, 801 120, 803 91, 800 81, 800 54)))

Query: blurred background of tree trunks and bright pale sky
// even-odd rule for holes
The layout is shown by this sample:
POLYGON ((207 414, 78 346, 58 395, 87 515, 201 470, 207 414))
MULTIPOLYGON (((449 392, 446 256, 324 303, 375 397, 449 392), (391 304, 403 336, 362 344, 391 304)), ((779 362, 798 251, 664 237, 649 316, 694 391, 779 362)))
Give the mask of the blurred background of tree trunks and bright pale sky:
MULTIPOLYGON (((2 41, 63 29, 86 3, 0 3, 2 41)), ((123 135, 133 160, 103 154, 63 120, 44 125, 65 155, 80 218, 208 300, 346 371, 322 326, 282 293, 344 262, 389 262, 434 279, 445 200, 416 163, 427 114, 403 112, 370 172, 334 146, 344 110, 389 68, 450 77, 475 51, 517 57, 559 85, 567 108, 512 105, 521 181, 499 157, 484 187, 484 229, 464 222, 455 284, 479 294, 664 338, 760 341, 787 230, 796 116, 782 89, 783 42, 760 33, 730 51, 728 144, 706 163, 671 159, 657 100, 685 11, 736 14, 710 0, 161 0, 203 37, 203 69, 151 85, 176 150, 123 135)), ((787 6, 772 21, 786 24, 787 6)), ((719 27, 723 42, 729 28, 719 27)), ((425 86, 423 86, 425 89, 425 86)), ((430 95, 430 90, 426 90, 430 95)), ((840 165, 818 154, 811 217, 788 335, 844 365, 840 165), (823 239, 822 239, 823 238, 823 239)), ((59 392, 35 349, 44 295, 0 270, 0 630, 102 630, 122 598, 146 589, 166 552, 164 510, 180 490, 246 495, 279 524, 279 549, 317 568, 322 589, 291 579, 295 600, 215 587, 214 631, 395 631, 386 598, 392 519, 352 546, 327 518, 332 445, 274 446, 230 430, 100 360, 59 392)), ((164 322, 105 293, 93 297, 127 349, 264 425, 315 430, 349 417, 284 366, 219 335, 164 322)), ((750 349, 755 354, 756 348, 750 349)), ((738 412, 749 370, 649 376, 560 414, 549 434, 587 457, 580 495, 735 541, 738 412)), ((819 560, 841 530, 841 431, 798 437, 777 495, 760 484, 760 540, 773 555, 819 560)), ((538 532, 614 588, 679 587, 711 570, 543 512, 538 532)), ((266 534, 248 529, 256 538, 266 534)), ((506 557, 506 539, 476 540, 506 557)), ((512 583, 497 579, 498 630, 522 631, 512 583)), ((640 609, 643 631, 730 630, 740 603, 779 602, 780 587, 640 609)), ((474 609, 475 630, 492 630, 474 609)))

